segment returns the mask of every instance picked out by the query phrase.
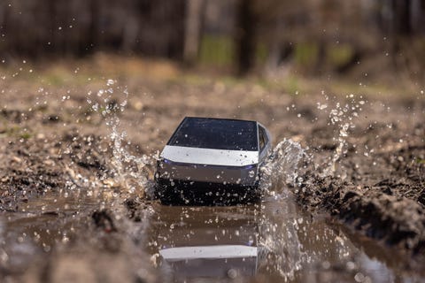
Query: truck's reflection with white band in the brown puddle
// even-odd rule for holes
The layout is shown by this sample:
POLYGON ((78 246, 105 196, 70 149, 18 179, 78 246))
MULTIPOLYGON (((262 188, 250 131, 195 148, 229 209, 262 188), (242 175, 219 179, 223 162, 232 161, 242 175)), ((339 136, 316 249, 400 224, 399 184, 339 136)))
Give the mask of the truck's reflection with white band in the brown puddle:
POLYGON ((255 275, 258 214, 254 207, 162 206, 155 225, 162 268, 179 281, 255 275))

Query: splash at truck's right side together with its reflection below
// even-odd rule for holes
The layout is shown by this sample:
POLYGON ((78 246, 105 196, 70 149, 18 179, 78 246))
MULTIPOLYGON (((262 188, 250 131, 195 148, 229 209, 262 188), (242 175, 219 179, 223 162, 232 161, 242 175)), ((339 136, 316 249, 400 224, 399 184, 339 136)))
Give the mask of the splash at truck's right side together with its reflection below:
MULTIPOLYGON (((283 139, 271 151, 265 164, 260 167, 261 188, 266 195, 274 199, 285 200, 288 198, 288 187, 296 187, 303 180, 302 164, 308 159, 305 149, 298 142, 283 139)), ((290 203, 283 201, 283 203, 290 203)), ((263 203, 264 204, 264 203, 263 203)), ((298 240, 298 222, 275 221, 270 215, 281 213, 288 207, 282 207, 281 202, 267 202, 265 212, 259 221, 259 252, 260 263, 266 264, 266 272, 277 273, 284 282, 294 279, 296 272, 303 268, 305 255, 302 245, 298 240), (274 263, 274 264, 267 264, 274 263)), ((294 203, 292 203, 294 205, 294 203)), ((288 211, 287 211, 288 212, 288 211)), ((288 215, 288 213, 283 213, 288 215)), ((263 268, 259 266, 259 268, 263 268)))

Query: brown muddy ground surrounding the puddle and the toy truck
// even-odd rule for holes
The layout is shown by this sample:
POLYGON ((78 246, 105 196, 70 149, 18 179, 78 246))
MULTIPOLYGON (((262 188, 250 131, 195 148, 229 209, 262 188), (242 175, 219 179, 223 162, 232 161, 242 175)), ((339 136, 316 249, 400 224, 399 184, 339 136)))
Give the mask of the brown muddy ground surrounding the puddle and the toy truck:
POLYGON ((167 63, 128 58, 1 72, 1 213, 25 212, 28 202, 49 194, 102 200, 100 207, 72 215, 32 211, 48 217, 52 226, 75 223, 84 233, 69 233, 65 242, 52 244, 58 248, 46 249, 24 269, 8 261, 4 246, 2 279, 113 282, 113 265, 120 280, 160 281, 145 264, 152 260, 149 256, 139 256, 144 264, 124 258, 137 246, 128 226, 143 222, 144 211, 156 203, 145 192, 154 157, 185 116, 256 119, 268 127, 274 144, 285 138, 299 142, 305 158, 290 189, 305 210, 329 213, 412 258, 425 255, 421 88, 409 93, 372 87, 336 91, 329 86, 332 81, 316 81, 311 88, 290 92, 278 83, 201 76, 167 63), (120 146, 113 144, 111 125, 117 133, 126 132, 120 146), (146 165, 124 160, 127 153, 120 149, 143 157, 146 165), (125 219, 117 220, 116 211, 125 219), (70 272, 71 264, 81 268, 70 272), (135 265, 139 268, 131 267, 135 265))

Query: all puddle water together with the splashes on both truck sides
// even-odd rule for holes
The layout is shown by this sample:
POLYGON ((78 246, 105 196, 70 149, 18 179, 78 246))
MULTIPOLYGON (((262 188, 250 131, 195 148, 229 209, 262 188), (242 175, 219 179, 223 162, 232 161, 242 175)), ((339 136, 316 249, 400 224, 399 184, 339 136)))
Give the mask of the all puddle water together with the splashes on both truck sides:
MULTIPOLYGON (((114 87, 89 94, 88 103, 102 115, 111 130, 112 180, 124 190, 121 198, 109 191, 61 191, 31 199, 19 212, 0 214, 0 263, 4 270, 25 270, 35 256, 52 247, 66 245, 81 233, 81 211, 112 210, 116 221, 123 219, 122 203, 128 195, 143 192, 151 197, 152 171, 156 156, 135 156, 126 149, 127 134, 120 130, 116 111, 125 111, 127 90, 114 87), (112 94, 122 95, 119 102, 112 94), (96 96, 96 99, 93 98, 96 96)), ((336 125, 338 146, 324 165, 297 142, 278 142, 261 168, 264 200, 258 205, 239 207, 172 207, 154 203, 143 213, 143 225, 126 223, 129 239, 137 242, 150 259, 144 264, 174 281, 245 282, 419 282, 403 267, 403 257, 394 260, 393 251, 344 229, 329 218, 313 218, 300 210, 292 194, 304 181, 306 166, 321 168, 321 174, 336 172, 338 159, 346 150, 348 129, 362 103, 336 107, 328 112, 336 125), (306 165, 307 164, 307 165, 306 165)), ((318 104, 322 111, 328 104, 318 104)), ((111 174, 111 172, 110 172, 111 174)), ((101 186, 101 182, 91 187, 101 186)), ((140 195, 140 194, 139 194, 140 195)), ((122 220, 121 220, 122 221, 122 220)), ((128 255, 132 256, 132 255, 128 255)), ((134 256, 134 255, 133 255, 134 256)))

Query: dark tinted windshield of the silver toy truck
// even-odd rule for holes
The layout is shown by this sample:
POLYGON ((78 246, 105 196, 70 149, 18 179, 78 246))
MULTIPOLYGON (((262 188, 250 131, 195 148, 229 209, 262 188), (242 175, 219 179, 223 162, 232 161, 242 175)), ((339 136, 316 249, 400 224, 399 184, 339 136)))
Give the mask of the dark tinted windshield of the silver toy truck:
POLYGON ((186 118, 168 145, 204 149, 258 150, 257 123, 230 119, 186 118))

